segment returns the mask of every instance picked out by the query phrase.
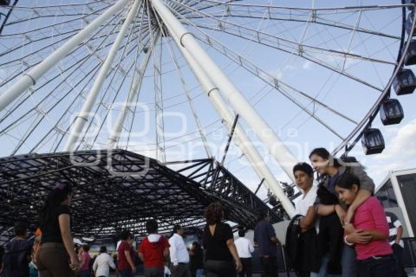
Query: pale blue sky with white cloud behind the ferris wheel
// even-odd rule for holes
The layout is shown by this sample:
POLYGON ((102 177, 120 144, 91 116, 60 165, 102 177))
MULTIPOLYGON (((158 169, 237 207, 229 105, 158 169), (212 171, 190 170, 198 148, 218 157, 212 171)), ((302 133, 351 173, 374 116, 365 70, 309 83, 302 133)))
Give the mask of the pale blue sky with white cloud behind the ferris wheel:
MULTIPOLYGON (((83 1, 78 0, 73 2, 83 1)), ((245 2, 258 3, 259 1, 245 2)), ((274 5, 281 6, 299 5, 301 7, 311 7, 312 4, 315 4, 315 7, 334 7, 334 5, 343 7, 347 5, 371 4, 391 5, 397 4, 396 2, 398 3, 398 1, 394 0, 299 0, 296 1, 295 4, 294 1, 288 0, 262 1, 262 3, 266 4, 273 3, 274 5)), ((62 4, 68 3, 68 1, 20 1, 21 5, 33 6, 51 3, 62 4)), ((97 7, 99 6, 97 5, 96 8, 97 7)), ((68 8, 68 11, 70 10, 71 9, 68 8)), ((87 9, 84 7, 75 10, 84 13, 87 9)), ((125 13, 126 10, 124 10, 123 13, 125 13)), ((231 10, 231 13, 238 13, 239 11, 238 8, 235 8, 235 10, 231 10)), ((51 8, 44 12, 53 14, 54 10, 51 8)), ((207 12, 211 15, 218 15, 221 13, 221 10, 213 9, 207 10, 207 12)), ((287 20, 270 20, 267 18, 264 9, 259 8, 256 12, 260 15, 259 19, 250 20, 236 17, 217 17, 217 19, 214 20, 210 17, 206 17, 205 19, 192 20, 192 23, 200 26, 199 29, 189 25, 187 28, 194 32, 195 37, 197 37, 200 40, 201 45, 207 49, 207 52, 212 59, 224 70, 239 91, 252 102, 258 114, 261 115, 271 129, 287 143, 288 147, 300 161, 306 161, 309 152, 315 147, 327 147, 329 150, 332 150, 342 141, 337 135, 318 123, 317 120, 311 118, 310 115, 302 111, 302 109, 292 101, 288 100, 281 92, 271 88, 257 76, 254 76, 245 68, 236 64, 235 59, 230 59, 208 46, 207 38, 204 36, 203 32, 210 36, 212 40, 215 40, 234 51, 236 55, 240 55, 246 61, 256 66, 257 69, 261 69, 268 75, 284 82, 286 85, 322 101, 326 105, 329 105, 336 111, 355 121, 360 121, 361 118, 363 118, 378 97, 380 92, 375 88, 381 90, 384 89, 393 72, 393 65, 363 61, 353 58, 352 56, 348 56, 347 58, 347 56, 343 57, 340 55, 328 54, 327 52, 318 51, 317 48, 342 51, 353 55, 362 55, 394 63, 397 56, 399 41, 397 39, 374 36, 363 32, 352 32, 348 29, 317 23, 307 24, 305 22, 292 22, 287 20), (240 25, 241 28, 238 29, 236 27, 237 25, 240 25), (204 28, 202 29, 201 27, 204 28), (221 28, 226 32, 212 30, 221 28), (250 31, 253 29, 256 32, 250 31), (200 32, 200 30, 203 30, 203 32, 200 32), (239 30, 244 30, 246 39, 240 39, 230 34, 238 32, 239 30), (269 46, 259 45, 250 42, 247 39, 253 38, 258 34, 264 36, 263 42, 269 44, 269 46), (278 41, 279 44, 277 44, 277 41, 272 39, 276 37, 283 40, 278 41), (318 63, 313 63, 304 57, 296 55, 296 51, 299 50, 296 44, 302 45, 304 54, 312 60, 318 61, 318 63), (312 46, 315 47, 315 49, 312 50, 312 48, 307 48, 306 46, 312 46), (284 52, 281 49, 277 49, 277 47, 282 47, 286 50, 289 49, 290 51, 284 52), (330 70, 325 68, 322 66, 323 64, 336 70, 345 69, 345 73, 346 75, 349 75, 349 77, 336 72, 334 69, 330 70), (370 84, 373 88, 363 84, 361 81, 370 84)), ((276 16, 288 17, 287 10, 285 9, 276 9, 275 12, 276 16)), ((195 12, 193 15, 200 16, 201 13, 195 12)), ((310 17, 310 13, 297 11, 294 13, 294 16, 301 20, 307 20, 310 17)), ((65 32, 85 25, 85 22, 77 20, 71 24, 58 24, 56 28, 46 28, 42 33, 32 33, 30 30, 36 27, 45 26, 50 24, 50 22, 58 23, 65 20, 65 17, 52 17, 53 20, 50 20, 49 18, 47 20, 33 20, 32 17, 33 13, 31 13, 30 10, 17 10, 17 12, 12 15, 11 20, 18 20, 20 18, 30 20, 6 27, 3 31, 3 35, 22 31, 31 39, 50 34, 54 34, 54 36, 48 39, 46 43, 45 41, 43 43, 28 43, 27 38, 25 40, 23 36, 0 37, 0 52, 7 51, 8 47, 16 43, 23 43, 23 47, 20 50, 0 56, 0 64, 16 58, 21 58, 30 51, 56 42, 59 38, 57 35, 59 32, 65 32)), ((67 19, 68 18, 72 19, 74 17, 67 17, 67 19)), ((117 22, 119 19, 119 17, 115 17, 114 22, 117 22)), ((362 11, 361 14, 359 11, 350 10, 346 12, 321 11, 318 12, 318 19, 337 24, 346 24, 348 26, 357 26, 363 29, 396 36, 400 35, 401 30, 401 9, 399 8, 362 11)), ((108 34, 111 34, 111 28, 111 26, 103 28, 98 32, 98 35, 104 34, 107 36, 108 34)), ((118 28, 119 24, 116 25, 116 29, 118 28)), ((137 32, 137 29, 135 32, 137 32)), ((132 33, 134 34, 134 32, 132 33)), ((116 34, 108 35, 107 42, 114 41, 115 37, 116 34)), ((89 43, 92 47, 97 47, 99 45, 99 40, 89 40, 89 43)), ((139 44, 139 42, 136 41, 134 43, 139 44)), ((1 67, 0 83, 11 76, 14 70, 27 70, 27 64, 31 65, 35 62, 42 61, 59 45, 62 45, 62 43, 47 47, 46 49, 25 58, 24 63, 22 61, 17 61, 8 67, 1 67)), ((46 115, 45 119, 37 125, 17 153, 23 154, 29 152, 46 133, 53 129, 52 127, 56 123, 59 123, 58 127, 61 128, 61 130, 68 128, 71 118, 73 118, 83 104, 83 98, 77 95, 79 93, 87 95, 89 89, 92 87, 94 78, 91 75, 90 79, 90 75, 87 74, 87 72, 88 70, 91 70, 93 66, 97 65, 97 57, 101 59, 105 58, 107 49, 108 48, 97 50, 96 56, 89 58, 88 62, 76 69, 73 74, 70 74, 72 69, 67 69, 62 73, 59 73, 61 69, 69 67, 70 64, 89 54, 89 49, 86 46, 82 46, 72 55, 62 60, 57 66, 53 67, 45 75, 45 78, 42 78, 38 82, 34 87, 36 92, 31 95, 30 101, 24 102, 19 109, 13 112, 7 119, 9 121, 6 120, 1 123, 2 126, 6 126, 7 123, 13 122, 14 119, 17 119, 22 115, 25 116, 25 120, 22 120, 21 124, 8 131, 7 135, 2 134, 2 136, 0 136, 0 143, 2 143, 2 145, 9 145, 9 147, 1 148, 2 156, 9 155, 10 149, 16 147, 18 141, 24 136, 25 132, 30 130, 30 127, 35 125, 37 120, 39 120, 39 114, 28 113, 30 108, 37 105, 48 93, 50 93, 50 96, 48 96, 41 105, 43 110, 47 110, 54 103, 58 103, 57 99, 64 97, 65 93, 71 90, 71 87, 75 87, 75 89, 70 91, 68 96, 65 96, 65 98, 59 102, 57 107, 52 109, 52 111, 46 115), (58 81, 51 82, 42 87, 47 80, 50 80, 56 74, 58 74, 59 77, 57 80, 66 80, 66 82, 62 83, 57 88, 55 88, 55 85, 58 84, 58 81), (67 109, 68 112, 64 112, 67 109), (62 120, 58 120, 61 115, 64 115, 62 120)), ((153 68, 154 65, 157 64, 157 56, 160 54, 162 58, 163 73, 163 119, 167 160, 172 161, 206 157, 204 147, 201 144, 201 139, 198 138, 194 113, 190 108, 190 103, 188 103, 186 90, 188 90, 188 94, 192 99, 191 104, 194 107, 198 120, 201 125, 204 126, 207 139, 212 146, 211 151, 217 160, 221 160, 223 147, 227 141, 227 131, 210 105, 207 96, 198 86, 191 70, 186 66, 186 63, 181 57, 175 44, 169 37, 162 38, 162 54, 159 51, 155 51, 155 54, 156 55, 151 58, 151 62, 146 70, 145 78, 140 90, 138 99, 141 104, 139 105, 136 114, 129 115, 125 121, 123 126, 126 129, 123 131, 123 138, 120 140, 119 146, 124 147, 127 138, 129 138, 129 150, 150 157, 156 157, 154 150, 156 140, 156 123, 154 117, 156 113, 154 111, 155 78, 153 68), (175 69, 173 58, 170 53, 170 46, 172 46, 173 55, 176 57, 181 68, 180 72, 175 69), (185 86, 181 81, 180 75, 184 78, 185 86), (146 109, 143 109, 143 107, 147 107, 149 111, 145 112, 146 109), (133 119, 134 121, 132 123, 133 119), (133 126, 131 132, 128 131, 130 126, 133 126), (145 132, 141 132, 142 130, 145 132), (127 136, 126 134, 129 135, 127 136)), ((117 62, 120 60, 121 67, 123 69, 128 69, 135 61, 135 53, 132 52, 131 54, 127 54, 127 58, 124 59, 122 59, 122 55, 122 51, 119 51, 115 61, 117 62)), ((139 55, 137 64, 140 64, 142 60, 143 53, 139 55)), ((101 99, 105 104, 105 107, 111 107, 111 104, 124 101, 126 92, 128 92, 131 84, 133 76, 132 72, 133 71, 128 71, 125 82, 123 81, 124 73, 116 71, 114 78, 112 78, 113 75, 110 74, 100 91, 97 102, 101 99)), ((16 80, 17 79, 13 81, 16 80)), ((10 83, 2 85, 0 87, 0 93, 4 92, 10 86, 10 83)), ((313 111, 315 116, 322 119, 325 124, 330 126, 334 132, 341 137, 346 137, 352 130, 354 124, 351 122, 322 108, 314 106, 310 101, 304 97, 300 97, 298 94, 293 94, 293 92, 287 90, 286 92, 288 95, 295 95, 294 97, 296 97, 301 106, 306 106, 310 111, 313 111)), ((395 97, 394 92, 392 92, 392 97, 395 97)), ((351 153, 351 155, 356 156, 367 166, 368 172, 375 180, 376 184, 387 175, 389 170, 416 167, 416 110, 414 108, 416 105, 416 97, 414 94, 411 94, 397 98, 400 100, 405 111, 405 118, 403 121, 399 125, 382 126, 377 117, 373 123, 373 127, 380 128, 384 135, 386 141, 386 149, 384 152, 376 156, 364 156, 359 143, 351 153)), ((105 147, 105 141, 109 130, 114 124, 116 115, 119 111, 119 106, 117 107, 117 105, 109 109, 103 108, 104 106, 94 105, 94 109, 97 109, 97 113, 92 120, 92 128, 99 130, 99 133, 98 138, 95 141, 93 140, 94 136, 88 138, 91 140, 88 142, 91 142, 92 148, 105 147), (108 113, 108 111, 110 112, 108 113), (109 114, 110 116, 105 117, 106 114, 109 114), (100 129, 100 124, 103 121, 105 127, 100 129)), ((10 109, 10 107, 8 108, 10 109)), ((11 110, 3 111, 3 113, 0 114, 0 117, 7 115, 10 111, 11 110)), ((258 142, 258 139, 253 132, 250 131, 244 118, 240 120, 240 123, 247 130, 249 137, 256 145, 258 145, 259 152, 262 154, 277 179, 280 181, 288 181, 288 177, 280 170, 278 164, 271 159, 267 149, 258 142)), ((4 128, 1 128, 2 126, 0 125, 0 129, 4 128)), ((45 153, 51 151, 50 149, 56 146, 56 138, 58 138, 58 135, 50 135, 40 147, 35 149, 35 152, 45 153)), ((63 141, 65 142, 65 139, 63 141)), ((62 149, 62 144, 59 145, 57 151, 60 149, 62 149)), ((245 162, 244 157, 241 157, 241 152, 239 152, 234 144, 231 145, 225 165, 232 173, 251 188, 254 188, 260 182, 253 170, 251 170, 250 166, 245 162)), ((261 189, 260 195, 265 195, 264 188, 261 189)))

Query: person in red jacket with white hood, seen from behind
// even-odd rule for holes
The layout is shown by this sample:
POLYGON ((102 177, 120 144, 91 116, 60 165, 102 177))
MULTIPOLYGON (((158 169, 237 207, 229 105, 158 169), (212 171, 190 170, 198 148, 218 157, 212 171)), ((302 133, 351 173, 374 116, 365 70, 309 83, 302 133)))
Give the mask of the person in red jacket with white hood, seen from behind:
POLYGON ((145 277, 163 277, 164 259, 169 256, 169 241, 158 234, 158 222, 150 219, 146 222, 149 234, 139 246, 139 257, 144 262, 145 277))

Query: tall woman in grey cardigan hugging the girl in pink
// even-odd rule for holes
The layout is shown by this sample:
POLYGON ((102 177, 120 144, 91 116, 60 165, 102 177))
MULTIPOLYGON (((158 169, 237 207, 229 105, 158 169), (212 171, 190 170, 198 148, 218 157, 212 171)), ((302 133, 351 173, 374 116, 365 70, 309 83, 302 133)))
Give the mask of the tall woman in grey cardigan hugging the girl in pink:
POLYGON ((344 244, 343 228, 353 231, 350 222, 354 212, 374 194, 375 185, 364 166, 353 157, 347 158, 337 159, 325 148, 315 148, 309 154, 312 167, 321 179, 314 203, 314 215, 320 217, 319 237, 323 249, 321 275, 357 276, 356 253, 352 247, 344 244), (361 184, 357 197, 348 208, 339 201, 335 192, 335 184, 345 172, 356 176, 361 184), (339 224, 334 220, 335 217, 338 217, 339 224))

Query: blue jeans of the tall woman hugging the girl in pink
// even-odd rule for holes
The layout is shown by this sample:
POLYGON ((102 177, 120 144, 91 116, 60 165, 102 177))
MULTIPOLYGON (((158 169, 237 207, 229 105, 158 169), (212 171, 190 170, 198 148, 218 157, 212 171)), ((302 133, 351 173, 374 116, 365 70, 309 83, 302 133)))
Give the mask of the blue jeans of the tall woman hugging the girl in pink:
POLYGON ((342 275, 326 273, 329 257, 324 255, 319 273, 311 272, 311 277, 356 277, 357 261, 355 259, 355 249, 345 245, 341 257, 342 275))

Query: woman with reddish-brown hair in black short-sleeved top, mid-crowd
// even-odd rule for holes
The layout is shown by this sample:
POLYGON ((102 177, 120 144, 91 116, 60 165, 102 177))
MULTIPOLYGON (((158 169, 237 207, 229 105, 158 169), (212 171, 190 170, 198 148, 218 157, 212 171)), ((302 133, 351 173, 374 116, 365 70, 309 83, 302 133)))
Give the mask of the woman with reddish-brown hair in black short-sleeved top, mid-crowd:
POLYGON ((234 245, 231 227, 221 222, 224 219, 222 205, 218 202, 209 204, 205 216, 207 226, 204 229, 202 243, 206 249, 207 277, 236 276, 236 272, 241 271, 242 264, 234 245))

